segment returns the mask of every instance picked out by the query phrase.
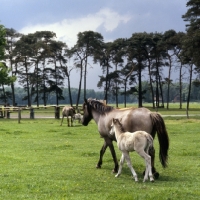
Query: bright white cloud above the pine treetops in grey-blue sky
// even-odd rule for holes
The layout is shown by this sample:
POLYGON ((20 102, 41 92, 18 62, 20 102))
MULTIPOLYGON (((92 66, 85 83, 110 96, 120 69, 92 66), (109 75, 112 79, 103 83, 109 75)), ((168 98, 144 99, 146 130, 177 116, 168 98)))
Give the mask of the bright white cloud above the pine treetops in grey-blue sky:
POLYGON ((79 32, 92 30, 97 31, 103 27, 106 32, 114 31, 121 23, 127 23, 131 19, 130 15, 120 15, 117 12, 104 8, 95 14, 89 14, 76 19, 63 19, 52 24, 30 24, 21 30, 20 33, 28 34, 36 31, 53 31, 57 39, 71 47, 77 41, 79 32))

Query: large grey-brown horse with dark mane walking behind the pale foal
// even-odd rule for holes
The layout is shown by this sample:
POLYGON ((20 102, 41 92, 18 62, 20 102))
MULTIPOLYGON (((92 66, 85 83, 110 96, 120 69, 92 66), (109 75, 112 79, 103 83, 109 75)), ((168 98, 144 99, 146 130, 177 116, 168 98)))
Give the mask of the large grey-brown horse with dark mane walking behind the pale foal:
MULTIPOLYGON (((167 166, 169 138, 164 120, 159 113, 151 112, 146 108, 115 109, 95 99, 85 99, 85 102, 83 103, 83 112, 82 124, 87 126, 88 123, 94 119, 101 137, 104 138, 104 144, 100 150, 100 158, 96 166, 97 168, 101 168, 103 155, 106 148, 109 147, 115 163, 113 171, 118 171, 118 161, 112 143, 113 141, 116 141, 116 138, 109 134, 113 118, 122 118, 121 123, 125 131, 135 132, 142 130, 150 133, 153 138, 157 132, 160 145, 160 162, 163 167, 167 166)), ((152 172, 154 177, 158 178, 159 173, 156 172, 154 167, 154 148, 149 149, 149 155, 151 156, 152 172)))

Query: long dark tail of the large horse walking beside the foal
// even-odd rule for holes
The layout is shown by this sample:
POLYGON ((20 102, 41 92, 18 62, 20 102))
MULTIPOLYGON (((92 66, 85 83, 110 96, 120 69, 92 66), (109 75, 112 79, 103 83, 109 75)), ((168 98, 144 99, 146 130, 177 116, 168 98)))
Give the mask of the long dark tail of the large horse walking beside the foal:
MULTIPOLYGON (((157 132, 158 141, 160 145, 159 158, 162 166, 167 167, 169 137, 166 130, 165 122, 159 113, 152 112, 151 120, 153 122, 153 129, 157 132)), ((154 136, 153 136, 154 137, 154 136)))

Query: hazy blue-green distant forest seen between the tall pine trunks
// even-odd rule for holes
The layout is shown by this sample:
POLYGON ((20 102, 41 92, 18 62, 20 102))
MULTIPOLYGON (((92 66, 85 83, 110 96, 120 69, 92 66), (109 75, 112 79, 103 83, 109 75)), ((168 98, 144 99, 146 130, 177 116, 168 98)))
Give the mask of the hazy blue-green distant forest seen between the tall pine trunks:
MULTIPOLYGON (((152 102, 152 98, 151 98, 151 90, 149 88, 149 84, 148 82, 142 82, 143 85, 143 102, 148 102, 151 103, 152 102)), ((188 83, 183 83, 182 84, 182 101, 186 101, 187 100, 187 96, 188 96, 188 87, 189 84, 188 83)), ((7 91, 6 93, 9 94, 9 92, 11 92, 10 87, 5 88, 5 90, 7 91)), ((120 104, 124 103, 124 95, 122 94, 123 91, 119 91, 119 96, 118 96, 118 101, 120 104)), ((71 94, 72 94, 72 102, 75 105, 76 101, 77 101, 77 94, 78 94, 78 89, 77 88, 71 88, 71 94)), ((104 99, 104 92, 103 91, 95 91, 93 89, 87 89, 86 91, 87 94, 87 98, 97 98, 100 100, 104 99)), ((21 88, 21 87, 17 87, 15 88, 15 95, 16 95, 16 105, 27 105, 27 99, 24 99, 24 97, 26 96, 26 91, 21 88)), ((63 104, 70 104, 70 100, 69 100, 69 94, 68 94, 68 88, 63 88, 63 100, 59 100, 59 104, 63 105, 63 104)), ((164 102, 167 101, 167 85, 163 85, 163 97, 164 97, 164 102)), ((35 97, 33 96, 31 98, 32 101, 32 105, 36 104, 34 102, 35 97)), ((179 84, 175 83, 172 84, 170 87, 170 97, 169 97, 170 102, 179 102, 180 100, 180 95, 179 95, 179 84)), ((83 103, 84 101, 84 95, 83 95, 83 90, 81 90, 81 96, 80 96, 80 103, 83 103)), ((126 101, 127 103, 137 103, 138 102, 138 94, 137 93, 132 93, 132 94, 127 94, 126 95, 126 101)), ((192 85, 192 89, 191 89, 191 98, 190 101, 200 101, 200 90, 198 86, 192 85)), ((1 104, 4 104, 3 101, 0 101, 1 104)), ((12 105, 12 100, 11 98, 8 97, 7 99, 7 103, 12 105)), ((43 100, 40 99, 39 101, 40 105, 43 105, 43 100)), ((108 101, 107 103, 112 103, 115 104, 115 98, 113 95, 109 95, 108 101)), ((56 104, 56 94, 55 93, 50 93, 47 95, 47 105, 55 105, 56 104)))

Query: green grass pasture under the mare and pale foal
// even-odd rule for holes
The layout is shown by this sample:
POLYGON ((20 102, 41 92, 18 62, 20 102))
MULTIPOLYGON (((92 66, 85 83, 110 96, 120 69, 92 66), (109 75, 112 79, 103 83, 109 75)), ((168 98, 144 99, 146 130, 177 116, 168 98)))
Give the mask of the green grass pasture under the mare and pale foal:
POLYGON ((23 119, 20 124, 0 119, 0 199, 199 199, 200 118, 195 118, 164 118, 169 164, 162 168, 155 138, 160 177, 154 183, 142 182, 144 160, 135 152, 130 155, 138 183, 126 164, 115 178, 109 149, 102 169, 95 168, 103 140, 94 121, 67 127, 58 119, 23 119))

